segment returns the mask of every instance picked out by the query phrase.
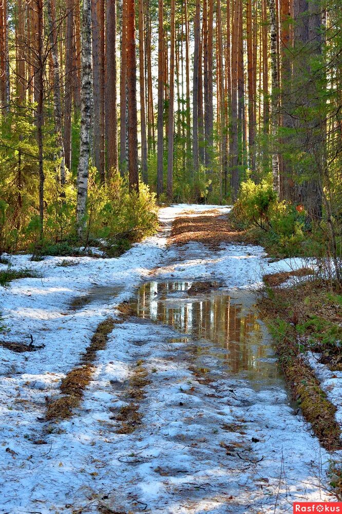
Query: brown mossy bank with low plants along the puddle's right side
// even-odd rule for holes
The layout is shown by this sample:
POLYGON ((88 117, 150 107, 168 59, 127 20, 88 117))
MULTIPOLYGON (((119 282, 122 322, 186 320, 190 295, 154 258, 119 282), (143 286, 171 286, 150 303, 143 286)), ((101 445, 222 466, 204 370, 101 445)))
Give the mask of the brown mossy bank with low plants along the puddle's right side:
POLYGON ((318 352, 330 369, 342 369, 342 296, 333 289, 327 291, 326 287, 318 280, 301 283, 290 290, 268 285, 268 295, 260 300, 259 308, 268 322, 282 369, 303 415, 321 444, 336 450, 342 448, 336 407, 320 388, 305 359, 308 351, 318 352))

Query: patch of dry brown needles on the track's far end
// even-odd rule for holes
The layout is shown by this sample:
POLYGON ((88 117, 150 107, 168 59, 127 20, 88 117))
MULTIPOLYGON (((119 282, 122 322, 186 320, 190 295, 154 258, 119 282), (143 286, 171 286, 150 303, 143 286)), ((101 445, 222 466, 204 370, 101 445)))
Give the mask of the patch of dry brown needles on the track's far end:
POLYGON ((217 210, 203 216, 179 216, 172 226, 170 243, 185 245, 190 241, 217 249, 221 243, 241 242, 243 231, 234 230, 225 215, 217 210))

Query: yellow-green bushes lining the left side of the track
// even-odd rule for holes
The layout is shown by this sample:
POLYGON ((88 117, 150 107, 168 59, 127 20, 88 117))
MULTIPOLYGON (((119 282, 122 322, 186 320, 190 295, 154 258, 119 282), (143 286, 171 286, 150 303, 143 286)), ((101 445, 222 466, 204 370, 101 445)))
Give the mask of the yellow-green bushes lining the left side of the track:
POLYGON ((28 251, 39 261, 46 255, 92 255, 89 247, 94 246, 105 256, 116 257, 158 227, 155 194, 144 183, 139 195, 129 192, 127 179, 119 174, 103 186, 96 170, 90 170, 86 229, 81 241, 75 223, 75 186, 70 183, 61 191, 54 181, 47 180, 45 196, 43 235, 30 195, 22 198, 21 210, 12 197, 1 200, 0 255, 28 251))

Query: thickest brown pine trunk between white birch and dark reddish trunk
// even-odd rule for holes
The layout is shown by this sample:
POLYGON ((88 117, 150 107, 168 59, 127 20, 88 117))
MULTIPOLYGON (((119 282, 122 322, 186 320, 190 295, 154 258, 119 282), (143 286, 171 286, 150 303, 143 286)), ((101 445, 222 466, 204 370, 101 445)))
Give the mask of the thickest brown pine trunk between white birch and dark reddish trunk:
POLYGON ((119 169, 117 113, 117 0, 107 0, 106 129, 107 174, 119 169))

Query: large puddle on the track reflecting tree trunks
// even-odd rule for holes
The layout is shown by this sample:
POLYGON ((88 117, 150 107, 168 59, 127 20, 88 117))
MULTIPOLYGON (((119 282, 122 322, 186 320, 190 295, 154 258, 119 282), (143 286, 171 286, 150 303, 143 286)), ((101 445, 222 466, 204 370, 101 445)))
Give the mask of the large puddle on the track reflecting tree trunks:
POLYGON ((196 366, 234 374, 255 389, 284 385, 272 338, 255 313, 251 291, 218 289, 189 296, 192 282, 143 284, 134 315, 166 324, 179 333, 170 343, 188 343, 196 366))

